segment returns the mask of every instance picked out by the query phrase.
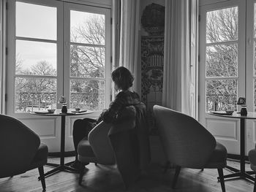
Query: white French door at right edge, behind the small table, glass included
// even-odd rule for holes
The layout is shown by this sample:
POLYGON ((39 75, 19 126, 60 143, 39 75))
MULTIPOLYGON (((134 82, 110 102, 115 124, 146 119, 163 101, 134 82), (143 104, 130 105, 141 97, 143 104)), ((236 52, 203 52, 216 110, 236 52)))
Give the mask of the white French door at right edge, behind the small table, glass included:
MULTIPOLYGON (((227 147, 240 154, 240 123, 207 112, 255 111, 255 0, 205 2, 200 7, 199 120, 227 147)), ((236 112, 234 112, 236 114, 236 112)), ((255 122, 246 122, 246 150, 255 146, 255 122)))

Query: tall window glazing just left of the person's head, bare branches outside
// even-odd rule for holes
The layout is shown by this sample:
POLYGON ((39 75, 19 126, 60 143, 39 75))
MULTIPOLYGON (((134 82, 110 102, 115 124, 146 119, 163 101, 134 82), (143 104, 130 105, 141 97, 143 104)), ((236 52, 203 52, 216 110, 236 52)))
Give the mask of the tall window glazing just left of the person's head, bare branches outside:
POLYGON ((105 107, 105 15, 70 11, 70 107, 105 107))

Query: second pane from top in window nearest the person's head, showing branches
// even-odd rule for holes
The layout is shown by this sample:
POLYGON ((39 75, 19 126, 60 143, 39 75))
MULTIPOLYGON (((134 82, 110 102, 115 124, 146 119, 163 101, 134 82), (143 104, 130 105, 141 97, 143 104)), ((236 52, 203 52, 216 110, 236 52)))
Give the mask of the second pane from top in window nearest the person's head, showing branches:
POLYGON ((105 48, 70 46, 71 77, 105 77, 105 48))

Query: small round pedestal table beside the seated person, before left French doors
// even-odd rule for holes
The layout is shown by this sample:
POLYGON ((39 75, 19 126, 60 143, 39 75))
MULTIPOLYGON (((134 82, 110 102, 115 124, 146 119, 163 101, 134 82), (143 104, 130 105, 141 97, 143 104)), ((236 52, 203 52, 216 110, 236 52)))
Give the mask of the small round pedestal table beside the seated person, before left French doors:
MULTIPOLYGON (((49 112, 30 112, 31 115, 42 115, 42 116, 50 116, 50 117, 61 117, 61 156, 60 156, 60 164, 47 164, 49 166, 56 167, 49 172, 45 173, 45 177, 50 175, 50 174, 55 174, 57 172, 61 171, 71 171, 71 172, 77 172, 76 169, 72 169, 68 165, 70 164, 64 164, 64 158, 65 158, 65 118, 66 116, 75 116, 75 115, 88 115, 92 113, 92 111, 86 111, 86 112, 71 112, 71 110, 67 110, 67 113, 62 113, 61 110, 56 110, 53 113, 49 112)), ((39 178, 40 179, 40 178, 39 178)))

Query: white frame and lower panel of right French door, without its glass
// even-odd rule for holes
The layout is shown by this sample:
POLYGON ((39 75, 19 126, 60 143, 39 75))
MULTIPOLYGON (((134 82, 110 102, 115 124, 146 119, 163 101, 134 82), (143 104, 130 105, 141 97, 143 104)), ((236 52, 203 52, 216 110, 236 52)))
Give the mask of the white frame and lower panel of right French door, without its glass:
MULTIPOLYGON (((238 154, 240 146, 240 125, 238 120, 224 119, 206 113, 206 12, 216 9, 225 9, 238 6, 238 95, 245 96, 245 20, 246 15, 241 14, 246 9, 244 2, 230 0, 207 4, 200 7, 200 41, 199 41, 199 120, 208 131, 214 134, 218 142, 224 144, 229 153, 238 154), (244 50, 244 51, 243 51, 244 50), (227 130, 225 130, 227 129, 227 130)), ((219 79, 219 78, 218 78, 219 79)), ((223 78, 225 79, 225 78, 223 78)))

